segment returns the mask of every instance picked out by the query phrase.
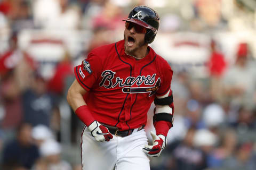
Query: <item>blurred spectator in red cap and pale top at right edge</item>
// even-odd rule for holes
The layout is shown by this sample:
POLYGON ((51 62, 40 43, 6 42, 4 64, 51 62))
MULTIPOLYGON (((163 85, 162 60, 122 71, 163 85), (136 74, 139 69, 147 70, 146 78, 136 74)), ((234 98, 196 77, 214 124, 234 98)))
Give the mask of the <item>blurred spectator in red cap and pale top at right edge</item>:
POLYGON ((238 46, 236 63, 227 70, 223 77, 223 88, 226 100, 231 106, 246 106, 251 109, 255 105, 253 98, 256 89, 255 71, 249 66, 248 46, 238 46))

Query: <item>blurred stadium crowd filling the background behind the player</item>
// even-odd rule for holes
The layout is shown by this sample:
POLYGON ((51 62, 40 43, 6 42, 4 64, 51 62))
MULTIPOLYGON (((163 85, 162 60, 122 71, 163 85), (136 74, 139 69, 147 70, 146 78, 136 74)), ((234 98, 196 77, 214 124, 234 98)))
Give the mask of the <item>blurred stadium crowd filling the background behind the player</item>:
POLYGON ((255 1, 0 0, 0 169, 81 169, 73 68, 123 39, 137 5, 158 12, 150 46, 174 71, 174 125, 151 169, 256 168, 255 1))

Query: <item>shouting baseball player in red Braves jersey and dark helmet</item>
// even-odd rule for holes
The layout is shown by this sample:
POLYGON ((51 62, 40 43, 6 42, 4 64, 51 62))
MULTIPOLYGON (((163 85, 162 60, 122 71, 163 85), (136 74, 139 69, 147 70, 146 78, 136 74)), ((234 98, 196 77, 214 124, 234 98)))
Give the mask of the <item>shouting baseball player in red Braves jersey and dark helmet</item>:
POLYGON ((148 46, 159 16, 137 6, 125 21, 124 40, 93 49, 74 68, 76 80, 67 100, 85 123, 82 132, 83 169, 150 169, 149 157, 159 156, 172 127, 173 98, 170 65, 148 46), (147 112, 155 103, 153 145, 145 130, 147 112))

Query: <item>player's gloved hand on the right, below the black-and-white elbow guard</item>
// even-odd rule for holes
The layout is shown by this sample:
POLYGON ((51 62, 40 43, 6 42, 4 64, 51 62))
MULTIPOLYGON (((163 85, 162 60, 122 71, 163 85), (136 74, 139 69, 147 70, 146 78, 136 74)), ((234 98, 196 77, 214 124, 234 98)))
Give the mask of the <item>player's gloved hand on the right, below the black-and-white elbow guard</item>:
POLYGON ((150 132, 150 134, 153 138, 153 145, 145 145, 142 150, 150 157, 158 157, 161 154, 162 150, 165 148, 167 139, 164 135, 156 135, 152 131, 150 132))

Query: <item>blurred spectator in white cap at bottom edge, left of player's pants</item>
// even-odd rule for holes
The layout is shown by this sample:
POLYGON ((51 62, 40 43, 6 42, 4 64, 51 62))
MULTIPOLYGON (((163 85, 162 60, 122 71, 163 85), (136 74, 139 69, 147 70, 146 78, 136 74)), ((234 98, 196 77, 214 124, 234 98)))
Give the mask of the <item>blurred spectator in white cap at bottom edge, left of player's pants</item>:
POLYGON ((45 141, 40 147, 42 159, 37 162, 33 170, 39 170, 40 167, 47 167, 47 170, 71 170, 71 166, 65 160, 61 160, 61 146, 54 140, 45 141))

